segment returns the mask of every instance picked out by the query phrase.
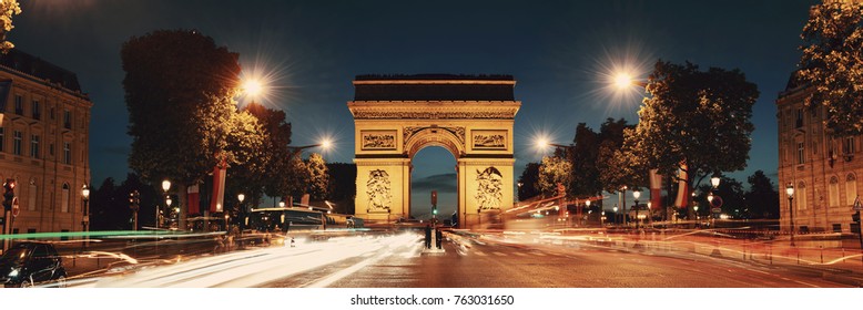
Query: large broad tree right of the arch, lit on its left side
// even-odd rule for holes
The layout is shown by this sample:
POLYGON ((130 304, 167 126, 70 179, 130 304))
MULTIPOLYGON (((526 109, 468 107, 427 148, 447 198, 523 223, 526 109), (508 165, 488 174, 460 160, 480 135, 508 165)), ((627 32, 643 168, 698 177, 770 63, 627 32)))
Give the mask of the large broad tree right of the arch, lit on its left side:
POLYGON ((639 123, 626 130, 612 159, 619 178, 634 174, 636 185, 643 185, 651 168, 670 176, 681 169, 694 188, 708 175, 747 166, 759 91, 742 72, 659 61, 646 90, 651 96, 643 100, 639 123))

